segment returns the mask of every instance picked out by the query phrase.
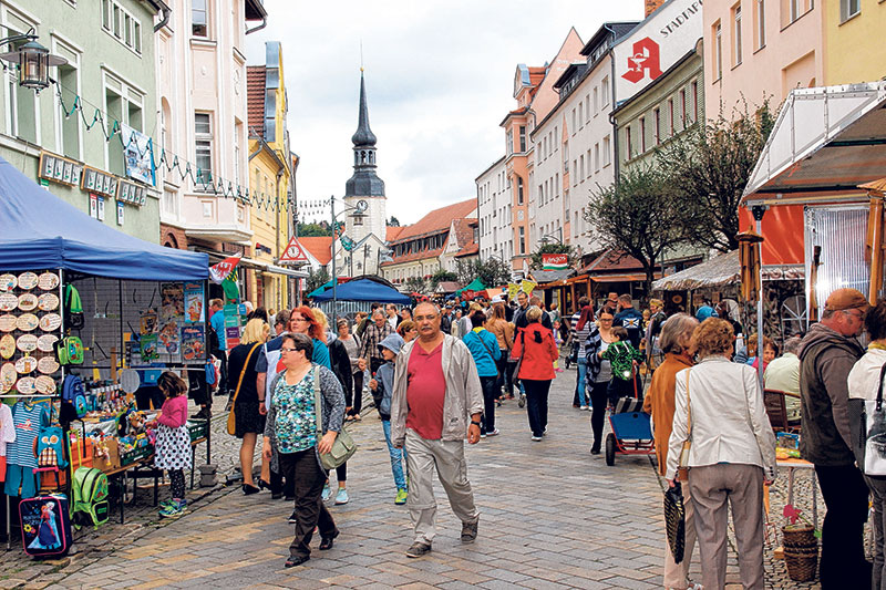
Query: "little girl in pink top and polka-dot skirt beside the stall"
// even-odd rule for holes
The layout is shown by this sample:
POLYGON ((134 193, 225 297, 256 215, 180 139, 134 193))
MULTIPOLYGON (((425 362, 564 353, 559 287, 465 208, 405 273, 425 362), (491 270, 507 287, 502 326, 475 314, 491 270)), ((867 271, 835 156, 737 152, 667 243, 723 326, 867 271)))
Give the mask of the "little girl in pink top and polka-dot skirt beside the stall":
POLYGON ((171 371, 165 371, 157 379, 157 387, 163 392, 163 402, 157 420, 151 423, 157 428, 156 454, 154 467, 169 472, 169 490, 172 500, 163 503, 159 516, 176 518, 184 514, 185 474, 183 469, 190 465, 190 436, 187 433, 187 384, 171 371))

